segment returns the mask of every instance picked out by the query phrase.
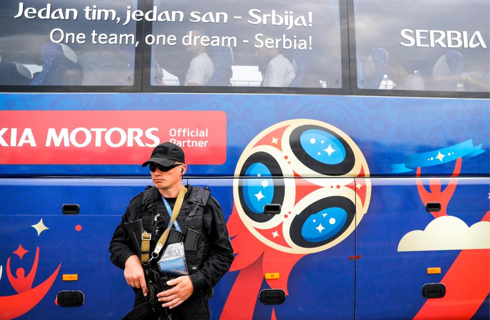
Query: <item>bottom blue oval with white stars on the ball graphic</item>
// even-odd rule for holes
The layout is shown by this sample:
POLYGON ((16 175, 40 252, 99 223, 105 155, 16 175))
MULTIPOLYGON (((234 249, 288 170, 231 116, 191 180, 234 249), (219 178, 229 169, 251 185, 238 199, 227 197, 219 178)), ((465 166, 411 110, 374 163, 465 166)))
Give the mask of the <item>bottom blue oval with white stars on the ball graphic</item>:
POLYGON ((347 211, 331 207, 317 212, 306 219, 301 235, 309 242, 322 242, 335 235, 347 221, 347 211))

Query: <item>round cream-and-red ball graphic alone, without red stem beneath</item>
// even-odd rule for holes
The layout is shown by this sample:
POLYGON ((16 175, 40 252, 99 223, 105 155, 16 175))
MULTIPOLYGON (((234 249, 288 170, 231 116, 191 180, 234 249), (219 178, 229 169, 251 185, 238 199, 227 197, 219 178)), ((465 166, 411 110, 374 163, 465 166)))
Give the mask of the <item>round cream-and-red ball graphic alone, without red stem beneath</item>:
POLYGON ((319 252, 340 243, 361 221, 371 196, 366 176, 365 158, 344 132, 321 121, 288 120, 262 131, 241 154, 235 208, 264 245, 319 252), (280 204, 280 214, 264 214, 265 204, 280 204))

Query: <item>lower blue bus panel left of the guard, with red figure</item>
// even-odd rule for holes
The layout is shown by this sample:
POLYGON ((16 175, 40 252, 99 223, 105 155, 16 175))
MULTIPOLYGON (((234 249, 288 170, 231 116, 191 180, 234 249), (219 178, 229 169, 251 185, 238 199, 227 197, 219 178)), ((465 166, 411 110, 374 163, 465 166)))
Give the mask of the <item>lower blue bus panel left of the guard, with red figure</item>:
POLYGON ((0 193, 7 200, 0 208, 0 304, 10 297, 3 311, 46 319, 121 318, 129 312, 134 295, 122 270, 110 262, 108 248, 129 200, 150 181, 0 179, 0 193), (65 203, 79 204, 80 213, 63 215, 65 203), (33 268, 37 248, 37 268, 33 268), (27 276, 31 269, 32 283, 19 278, 21 270, 27 276), (63 281, 63 275, 78 275, 78 280, 63 281), (61 290, 81 290, 84 304, 57 306, 61 290), (33 304, 40 300, 30 311, 24 309, 26 296, 33 304))

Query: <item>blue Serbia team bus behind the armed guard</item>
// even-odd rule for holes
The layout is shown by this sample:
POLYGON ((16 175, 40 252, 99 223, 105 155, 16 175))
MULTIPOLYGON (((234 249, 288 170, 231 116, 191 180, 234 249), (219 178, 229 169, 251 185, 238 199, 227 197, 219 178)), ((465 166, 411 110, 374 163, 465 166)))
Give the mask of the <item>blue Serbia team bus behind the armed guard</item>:
POLYGON ((490 317, 489 3, 0 3, 0 318, 122 318, 165 141, 222 205, 213 319, 490 317))

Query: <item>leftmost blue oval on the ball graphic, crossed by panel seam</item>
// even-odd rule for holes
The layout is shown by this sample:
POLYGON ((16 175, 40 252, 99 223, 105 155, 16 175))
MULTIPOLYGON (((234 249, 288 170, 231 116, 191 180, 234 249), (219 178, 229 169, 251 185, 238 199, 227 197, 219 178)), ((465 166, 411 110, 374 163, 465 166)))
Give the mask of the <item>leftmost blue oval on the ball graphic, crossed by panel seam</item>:
POLYGON ((264 164, 254 163, 245 171, 245 176, 255 178, 243 180, 245 203, 256 214, 262 214, 264 205, 272 203, 274 198, 274 180, 271 178, 271 171, 264 164))

